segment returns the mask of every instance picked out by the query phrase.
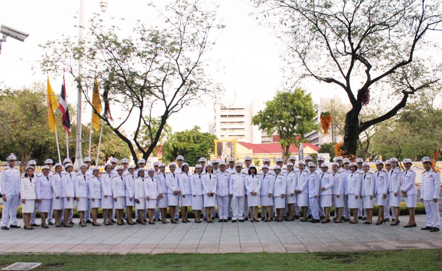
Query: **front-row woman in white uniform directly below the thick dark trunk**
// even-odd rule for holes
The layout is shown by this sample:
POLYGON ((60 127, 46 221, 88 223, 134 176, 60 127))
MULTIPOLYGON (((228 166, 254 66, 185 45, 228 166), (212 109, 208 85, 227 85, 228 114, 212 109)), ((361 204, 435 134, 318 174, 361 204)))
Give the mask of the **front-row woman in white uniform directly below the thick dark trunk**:
POLYGON ((360 195, 360 173, 356 172, 356 163, 350 163, 350 172, 347 173, 347 190, 345 197, 348 199, 348 208, 350 209, 353 220, 350 224, 358 223, 358 209, 361 206, 360 195))

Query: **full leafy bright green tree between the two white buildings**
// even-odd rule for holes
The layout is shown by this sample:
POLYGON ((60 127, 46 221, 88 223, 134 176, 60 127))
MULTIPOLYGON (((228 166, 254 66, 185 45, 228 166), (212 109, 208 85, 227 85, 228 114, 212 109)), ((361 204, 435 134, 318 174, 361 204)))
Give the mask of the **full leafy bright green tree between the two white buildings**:
POLYGON ((287 161, 290 144, 298 145, 305 134, 319 128, 315 117, 311 95, 296 88, 293 92, 277 92, 273 100, 266 102, 266 108, 252 117, 252 123, 269 135, 279 135, 282 157, 287 161))

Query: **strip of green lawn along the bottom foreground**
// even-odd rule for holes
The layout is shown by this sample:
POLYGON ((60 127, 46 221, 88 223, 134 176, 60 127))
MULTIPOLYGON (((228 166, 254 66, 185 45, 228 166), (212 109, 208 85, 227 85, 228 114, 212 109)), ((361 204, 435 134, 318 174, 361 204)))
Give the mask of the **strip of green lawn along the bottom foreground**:
POLYGON ((359 253, 3 254, 0 268, 42 262, 35 270, 442 270, 442 249, 359 253))

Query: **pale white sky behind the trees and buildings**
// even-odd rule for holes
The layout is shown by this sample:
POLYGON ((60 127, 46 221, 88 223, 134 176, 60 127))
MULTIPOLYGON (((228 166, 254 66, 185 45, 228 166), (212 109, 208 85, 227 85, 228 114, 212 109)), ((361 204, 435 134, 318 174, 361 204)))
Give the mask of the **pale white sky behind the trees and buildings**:
MULTIPOLYGON (((55 40, 61 33, 77 35, 77 16, 79 0, 14 0, 1 1, 0 24, 7 25, 29 34, 25 42, 7 38, 3 42, 0 54, 0 84, 12 89, 19 89, 33 82, 46 83, 46 75, 38 68, 37 60, 43 51, 38 47, 48 40, 55 40), (36 67, 36 69, 32 69, 36 67)), ((100 0, 85 1, 85 22, 93 13, 100 13, 101 18, 108 22, 110 18, 125 18, 121 28, 128 30, 133 27, 135 19, 157 23, 158 15, 147 6, 147 1, 107 0, 108 8, 105 13, 100 11, 100 0)), ((164 1, 153 1, 159 8, 164 1)), ((276 89, 284 85, 281 68, 284 62, 280 54, 284 45, 279 41, 269 27, 260 26, 255 11, 247 0, 215 0, 219 4, 217 18, 226 27, 217 39, 216 45, 208 53, 212 59, 209 73, 213 81, 221 83, 227 100, 233 99, 236 93, 237 102, 248 103, 252 98, 262 102, 272 99, 276 89)), ((87 23, 86 23, 87 24, 87 23)), ((86 25, 87 27, 87 25, 86 25)), ((129 32, 128 32, 129 34, 129 32)), ((71 79, 66 78, 67 81, 71 79)), ((51 75, 51 83, 55 93, 61 87, 61 77, 51 75)), ((343 101, 348 100, 343 90, 331 84, 310 82, 302 87, 311 92, 313 99, 319 103, 320 97, 332 97, 337 94, 343 101)), ((68 102, 76 107, 76 88, 67 89, 68 102)), ((208 124, 213 119, 213 100, 202 101, 198 107, 182 109, 171 116, 168 123, 173 131, 191 129, 199 125, 203 132, 208 131, 208 124), (207 112, 201 114, 201 112, 207 112)), ((221 101, 222 102, 222 101, 221 101)), ((114 109, 113 116, 120 112, 114 109)), ((74 116, 71 116, 73 118, 74 116)), ((135 116, 134 116, 135 117, 135 116)), ((83 123, 90 119, 90 110, 83 112, 83 123)), ((131 120, 135 123, 138 120, 131 120)))

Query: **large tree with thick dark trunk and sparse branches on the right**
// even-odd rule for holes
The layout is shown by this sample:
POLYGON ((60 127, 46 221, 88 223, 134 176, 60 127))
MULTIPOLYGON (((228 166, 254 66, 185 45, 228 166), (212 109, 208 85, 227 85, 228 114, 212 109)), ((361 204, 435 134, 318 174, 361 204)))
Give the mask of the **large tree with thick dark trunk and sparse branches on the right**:
MULTIPOLYGON (((393 117, 410 95, 437 81, 439 68, 417 54, 437 47, 427 39, 441 30, 438 1, 426 0, 254 0, 276 23, 288 47, 285 60, 298 79, 313 78, 343 89, 351 108, 345 117, 343 152, 355 155, 359 135, 393 117), (370 95, 386 89, 388 107, 361 121, 370 95), (371 93, 371 94, 370 94, 371 93)), ((430 57, 431 58, 431 57, 430 57)))

